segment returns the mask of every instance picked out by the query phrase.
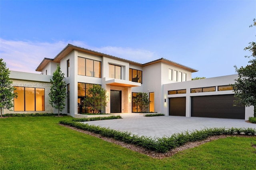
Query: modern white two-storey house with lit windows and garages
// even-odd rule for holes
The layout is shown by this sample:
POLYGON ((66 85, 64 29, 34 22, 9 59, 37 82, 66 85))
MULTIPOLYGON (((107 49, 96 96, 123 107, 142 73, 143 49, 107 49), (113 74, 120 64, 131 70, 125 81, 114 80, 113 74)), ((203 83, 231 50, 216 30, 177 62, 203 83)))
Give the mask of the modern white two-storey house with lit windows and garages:
POLYGON ((50 79, 60 65, 67 83, 66 106, 62 113, 77 117, 88 113, 83 99, 93 84, 106 89, 104 113, 132 113, 138 108, 132 98, 148 93, 149 112, 186 117, 220 117, 248 119, 253 107, 234 107, 230 84, 238 75, 193 80, 196 69, 161 58, 136 63, 90 49, 68 44, 54 59, 44 58, 36 71, 41 74, 11 71, 18 98, 13 111, 4 113, 52 113, 49 104, 50 79))

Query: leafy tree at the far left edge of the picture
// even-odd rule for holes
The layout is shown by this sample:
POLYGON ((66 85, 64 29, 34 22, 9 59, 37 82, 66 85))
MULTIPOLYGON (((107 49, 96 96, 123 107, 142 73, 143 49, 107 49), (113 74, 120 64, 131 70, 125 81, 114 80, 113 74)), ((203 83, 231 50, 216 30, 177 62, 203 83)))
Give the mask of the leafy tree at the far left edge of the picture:
POLYGON ((18 97, 17 93, 14 93, 14 86, 12 86, 12 81, 9 78, 10 71, 6 68, 6 63, 3 59, 0 59, 0 108, 1 108, 1 117, 2 109, 8 109, 12 111, 13 107, 12 101, 18 97))

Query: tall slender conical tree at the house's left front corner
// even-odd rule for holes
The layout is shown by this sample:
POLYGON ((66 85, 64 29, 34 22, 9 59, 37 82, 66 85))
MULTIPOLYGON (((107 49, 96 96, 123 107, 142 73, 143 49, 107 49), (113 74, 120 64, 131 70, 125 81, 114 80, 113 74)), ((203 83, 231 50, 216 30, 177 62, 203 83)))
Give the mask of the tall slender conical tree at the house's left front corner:
POLYGON ((65 99, 66 95, 66 82, 63 81, 64 73, 60 70, 60 66, 58 65, 56 71, 54 71, 52 79, 50 82, 52 83, 49 97, 50 104, 55 109, 58 109, 58 116, 60 116, 60 111, 62 111, 65 107, 65 99))

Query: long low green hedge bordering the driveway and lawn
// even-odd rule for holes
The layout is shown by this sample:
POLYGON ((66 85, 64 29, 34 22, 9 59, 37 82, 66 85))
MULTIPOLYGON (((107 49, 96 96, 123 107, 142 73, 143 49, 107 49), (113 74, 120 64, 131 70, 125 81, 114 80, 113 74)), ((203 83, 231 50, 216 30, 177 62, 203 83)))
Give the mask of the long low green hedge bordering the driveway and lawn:
MULTIPOLYGON (((107 117, 101 117, 107 118, 107 117)), ((88 118, 86 118, 88 119, 88 118)), ((85 119, 80 119, 84 121, 85 119)), ((101 119, 103 120, 103 119, 101 119)), ((91 119, 89 121, 92 121, 91 119)), ((78 119, 72 121, 60 121, 60 124, 69 125, 82 130, 88 130, 102 136, 114 138, 129 144, 135 144, 142 146, 148 150, 156 152, 168 152, 178 146, 184 145, 186 142, 194 142, 197 140, 204 140, 209 136, 216 136, 220 134, 245 134, 245 135, 256 135, 256 129, 254 128, 204 128, 202 130, 194 130, 192 132, 181 132, 175 133, 170 137, 164 136, 162 138, 152 138, 146 136, 138 136, 131 134, 131 132, 121 132, 110 128, 88 125, 80 123, 78 119)))

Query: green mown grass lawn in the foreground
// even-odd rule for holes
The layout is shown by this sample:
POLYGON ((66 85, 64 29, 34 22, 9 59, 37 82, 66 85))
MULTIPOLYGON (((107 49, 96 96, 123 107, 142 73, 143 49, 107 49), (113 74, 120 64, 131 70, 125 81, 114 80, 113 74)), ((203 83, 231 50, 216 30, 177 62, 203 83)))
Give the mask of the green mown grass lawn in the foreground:
POLYGON ((256 168, 256 137, 222 138, 158 160, 58 125, 67 119, 0 119, 0 169, 256 168))

